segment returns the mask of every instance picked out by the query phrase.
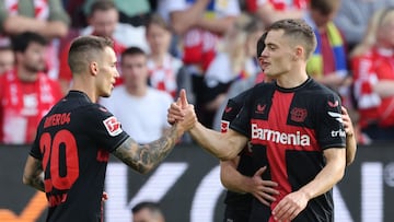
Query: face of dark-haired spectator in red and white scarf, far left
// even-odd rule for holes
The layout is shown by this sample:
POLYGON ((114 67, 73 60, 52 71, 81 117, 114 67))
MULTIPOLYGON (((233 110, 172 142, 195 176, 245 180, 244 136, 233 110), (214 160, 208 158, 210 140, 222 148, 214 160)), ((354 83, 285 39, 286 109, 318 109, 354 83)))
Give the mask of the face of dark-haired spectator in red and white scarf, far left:
POLYGON ((31 72, 39 72, 45 70, 45 50, 46 46, 38 43, 31 43, 23 54, 18 52, 18 62, 31 72))

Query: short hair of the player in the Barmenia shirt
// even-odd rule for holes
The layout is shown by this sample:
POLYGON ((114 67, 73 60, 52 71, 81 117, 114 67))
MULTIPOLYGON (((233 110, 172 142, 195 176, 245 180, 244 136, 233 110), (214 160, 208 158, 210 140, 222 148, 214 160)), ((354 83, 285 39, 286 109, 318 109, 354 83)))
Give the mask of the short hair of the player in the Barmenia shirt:
POLYGON ((289 39, 297 40, 305 49, 305 59, 310 58, 316 48, 317 40, 313 32, 313 28, 304 21, 300 19, 286 19, 274 22, 267 32, 273 30, 285 31, 285 36, 289 39))

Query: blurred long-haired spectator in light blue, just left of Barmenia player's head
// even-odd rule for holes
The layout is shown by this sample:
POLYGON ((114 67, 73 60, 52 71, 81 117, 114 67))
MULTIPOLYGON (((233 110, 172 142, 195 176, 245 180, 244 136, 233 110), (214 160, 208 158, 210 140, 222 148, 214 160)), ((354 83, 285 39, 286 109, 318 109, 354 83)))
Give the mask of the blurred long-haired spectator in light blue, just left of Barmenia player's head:
POLYGON ((247 79, 255 80, 260 72, 256 62, 255 48, 263 31, 264 25, 259 20, 242 17, 219 44, 218 54, 205 74, 207 103, 202 108, 206 114, 212 113, 213 124, 218 109, 225 104, 231 85, 247 79))

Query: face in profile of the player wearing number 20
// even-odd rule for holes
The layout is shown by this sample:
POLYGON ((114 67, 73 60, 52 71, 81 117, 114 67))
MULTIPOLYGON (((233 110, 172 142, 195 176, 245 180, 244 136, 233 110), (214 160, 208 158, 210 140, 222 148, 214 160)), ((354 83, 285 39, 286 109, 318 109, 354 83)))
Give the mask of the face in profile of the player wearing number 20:
POLYGON ((103 54, 103 60, 99 65, 99 92, 100 96, 108 97, 116 78, 119 73, 116 69, 116 55, 113 48, 106 47, 103 54))

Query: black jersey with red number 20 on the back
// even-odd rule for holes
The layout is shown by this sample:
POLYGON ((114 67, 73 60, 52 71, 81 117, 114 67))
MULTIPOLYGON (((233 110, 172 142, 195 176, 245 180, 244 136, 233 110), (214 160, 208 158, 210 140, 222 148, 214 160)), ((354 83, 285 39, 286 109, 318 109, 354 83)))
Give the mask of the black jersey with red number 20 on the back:
POLYGON ((78 91, 44 116, 30 154, 43 163, 47 221, 101 221, 109 153, 128 137, 106 108, 78 91))

